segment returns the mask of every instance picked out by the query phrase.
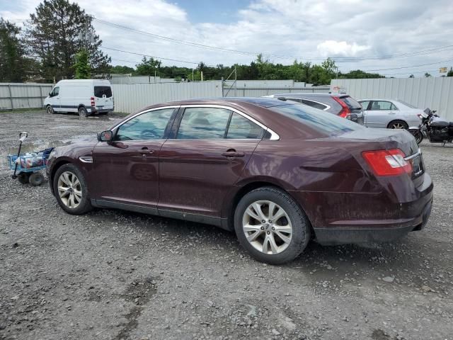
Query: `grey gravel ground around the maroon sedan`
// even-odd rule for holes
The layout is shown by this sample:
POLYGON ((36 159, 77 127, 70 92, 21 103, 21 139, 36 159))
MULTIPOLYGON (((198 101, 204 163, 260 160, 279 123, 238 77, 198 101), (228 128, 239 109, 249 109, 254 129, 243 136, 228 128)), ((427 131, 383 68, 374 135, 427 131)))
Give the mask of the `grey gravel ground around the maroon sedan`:
POLYGON ((400 242, 251 259, 234 234, 117 210, 76 217, 9 177, 17 132, 61 145, 113 125, 0 113, 0 339, 453 339, 453 147, 423 143, 435 200, 400 242))

